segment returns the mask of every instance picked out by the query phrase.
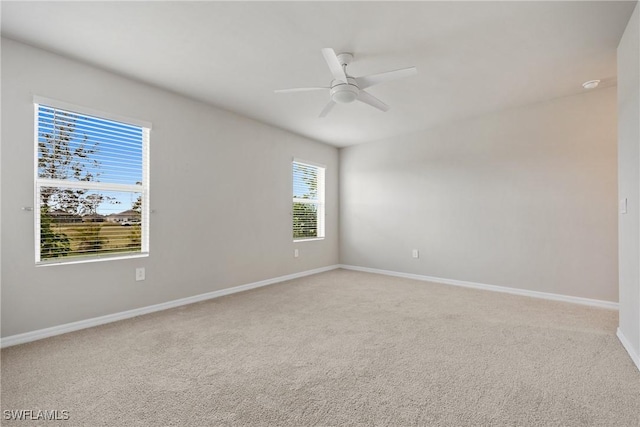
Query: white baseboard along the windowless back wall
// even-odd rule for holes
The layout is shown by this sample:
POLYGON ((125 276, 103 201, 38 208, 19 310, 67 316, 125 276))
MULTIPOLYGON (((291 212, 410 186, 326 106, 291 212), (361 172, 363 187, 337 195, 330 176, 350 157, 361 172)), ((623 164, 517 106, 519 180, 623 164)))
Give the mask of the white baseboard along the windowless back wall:
POLYGON ((463 286, 465 288, 483 289, 486 291, 503 292, 507 294, 522 295, 533 298, 542 298, 553 301, 570 302, 573 304, 589 305, 592 307, 607 308, 611 310, 618 309, 617 302, 602 301, 589 298, 572 297, 568 295, 551 294, 547 292, 529 291, 526 289, 508 288, 506 286, 485 285, 484 283, 466 282, 464 280, 443 279, 441 277, 423 276, 420 274, 400 273, 397 271, 379 270, 377 268, 358 267, 355 265, 341 264, 340 268, 346 270, 363 271, 367 273, 384 274, 386 276, 404 277, 405 279, 421 280, 425 282, 441 283, 444 285, 463 286))

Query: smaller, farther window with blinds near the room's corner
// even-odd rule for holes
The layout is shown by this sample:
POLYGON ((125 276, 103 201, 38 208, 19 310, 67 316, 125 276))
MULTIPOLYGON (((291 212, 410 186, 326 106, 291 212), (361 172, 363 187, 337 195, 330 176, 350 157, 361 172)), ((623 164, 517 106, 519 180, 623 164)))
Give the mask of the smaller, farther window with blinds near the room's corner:
POLYGON ((293 161, 293 240, 324 237, 324 169, 293 161))

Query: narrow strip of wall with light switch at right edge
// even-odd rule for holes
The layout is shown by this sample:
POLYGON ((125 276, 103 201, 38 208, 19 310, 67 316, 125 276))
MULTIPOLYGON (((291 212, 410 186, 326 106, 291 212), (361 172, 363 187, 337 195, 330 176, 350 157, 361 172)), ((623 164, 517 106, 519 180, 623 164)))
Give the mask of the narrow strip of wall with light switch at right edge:
MULTIPOLYGON (((640 7, 618 46, 620 332, 640 355, 640 7)), ((636 362, 640 363, 640 362, 636 362)), ((640 366, 639 366, 640 367, 640 366)))

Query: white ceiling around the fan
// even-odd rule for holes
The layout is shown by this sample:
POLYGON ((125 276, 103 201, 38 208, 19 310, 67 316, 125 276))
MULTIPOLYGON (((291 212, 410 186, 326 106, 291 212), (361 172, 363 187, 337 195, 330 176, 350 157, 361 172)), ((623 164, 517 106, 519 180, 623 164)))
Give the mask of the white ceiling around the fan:
POLYGON ((634 1, 2 2, 2 34, 336 146, 614 84, 634 1), (391 110, 337 105, 320 49, 350 74, 409 66, 368 91, 391 110))

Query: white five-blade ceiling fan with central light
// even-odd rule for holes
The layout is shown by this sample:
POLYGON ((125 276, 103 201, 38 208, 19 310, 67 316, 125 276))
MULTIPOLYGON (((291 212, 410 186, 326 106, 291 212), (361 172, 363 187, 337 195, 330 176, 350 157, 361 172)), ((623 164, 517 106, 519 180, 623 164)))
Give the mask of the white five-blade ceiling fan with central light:
POLYGON ((333 74, 333 80, 329 87, 301 87, 275 91, 275 93, 289 93, 328 90, 331 99, 320 112, 320 117, 325 117, 329 114, 329 111, 331 111, 337 102, 341 104, 348 104, 353 101, 360 101, 365 104, 369 104, 380 111, 387 111, 389 110, 389 106, 387 104, 380 101, 369 92, 365 92, 364 89, 377 85, 378 83, 401 79, 418 73, 418 69, 416 67, 409 67, 401 70, 371 74, 369 76, 352 77, 347 73, 347 66, 353 60, 353 55, 351 53, 340 53, 336 55, 333 49, 324 48, 322 49, 322 55, 324 56, 325 61, 327 61, 331 74, 333 74))

